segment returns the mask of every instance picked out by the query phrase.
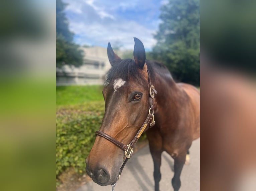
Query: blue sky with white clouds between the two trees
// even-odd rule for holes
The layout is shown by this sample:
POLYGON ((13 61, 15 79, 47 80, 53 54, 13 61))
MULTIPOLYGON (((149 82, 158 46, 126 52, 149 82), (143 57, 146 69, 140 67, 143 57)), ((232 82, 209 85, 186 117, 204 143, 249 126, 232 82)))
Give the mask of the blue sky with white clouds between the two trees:
POLYGON ((160 23, 160 6, 166 0, 63 0, 68 3, 66 15, 74 41, 80 45, 107 47, 121 45, 133 49, 133 37, 140 39, 146 50, 156 40, 153 35, 160 23))

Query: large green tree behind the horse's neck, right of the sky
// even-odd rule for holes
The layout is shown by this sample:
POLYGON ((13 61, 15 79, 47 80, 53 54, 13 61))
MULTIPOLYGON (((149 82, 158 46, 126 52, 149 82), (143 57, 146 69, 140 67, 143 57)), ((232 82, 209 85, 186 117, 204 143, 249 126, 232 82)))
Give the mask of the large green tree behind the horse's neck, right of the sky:
POLYGON ((181 82, 200 84, 200 2, 169 0, 161 7, 162 23, 152 57, 181 82))

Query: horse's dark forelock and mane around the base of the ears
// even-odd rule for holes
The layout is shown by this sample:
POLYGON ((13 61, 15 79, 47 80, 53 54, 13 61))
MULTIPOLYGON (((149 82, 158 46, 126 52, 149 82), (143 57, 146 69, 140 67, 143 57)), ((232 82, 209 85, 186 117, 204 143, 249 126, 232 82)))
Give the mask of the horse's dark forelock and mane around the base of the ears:
MULTIPOLYGON (((154 79, 156 70, 165 70, 169 73, 168 69, 161 63, 151 60, 146 60, 150 79, 154 79)), ((128 81, 132 78, 138 83, 146 83, 141 77, 141 72, 132 59, 116 60, 115 64, 110 68, 107 73, 106 84, 113 82, 115 79, 121 78, 124 81, 128 81), (143 80, 143 81, 142 81, 143 80)))

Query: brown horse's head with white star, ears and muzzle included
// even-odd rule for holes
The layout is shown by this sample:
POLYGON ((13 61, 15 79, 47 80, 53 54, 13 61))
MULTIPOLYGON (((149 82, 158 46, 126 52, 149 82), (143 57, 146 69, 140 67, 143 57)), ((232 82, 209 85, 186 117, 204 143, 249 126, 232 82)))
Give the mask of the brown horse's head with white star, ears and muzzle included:
MULTIPOLYGON (((149 108, 146 55, 142 42, 134 38, 134 60, 120 59, 108 44, 111 69, 102 91, 105 114, 100 131, 129 144, 145 121, 149 108)), ((124 151, 97 136, 86 159, 86 172, 101 186, 115 184, 125 160, 124 151)))

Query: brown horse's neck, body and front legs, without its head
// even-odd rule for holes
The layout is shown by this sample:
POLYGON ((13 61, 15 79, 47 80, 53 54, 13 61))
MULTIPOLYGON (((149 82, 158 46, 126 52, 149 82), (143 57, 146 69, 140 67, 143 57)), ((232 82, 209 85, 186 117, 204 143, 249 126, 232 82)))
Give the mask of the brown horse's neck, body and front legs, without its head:
MULTIPOLYGON (((173 187, 180 187, 179 175, 185 156, 193 140, 200 136, 200 93, 189 84, 175 83, 167 69, 146 62, 152 68, 156 99, 156 125, 146 131, 154 161, 155 190, 161 178, 161 153, 166 151, 174 158, 173 187), (169 74, 169 75, 167 75, 169 74)), ((162 66, 163 67, 163 66, 162 66)))

